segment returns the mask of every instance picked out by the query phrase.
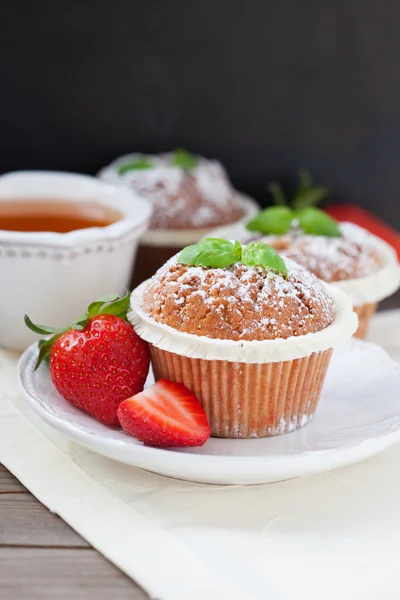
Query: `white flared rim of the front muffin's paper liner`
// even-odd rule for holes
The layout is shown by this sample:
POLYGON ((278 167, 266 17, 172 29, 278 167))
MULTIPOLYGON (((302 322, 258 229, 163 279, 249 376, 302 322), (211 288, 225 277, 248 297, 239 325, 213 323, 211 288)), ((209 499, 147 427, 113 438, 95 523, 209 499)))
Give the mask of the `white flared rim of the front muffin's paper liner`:
POLYGON ((158 323, 143 310, 143 293, 148 283, 143 282, 132 292, 129 321, 136 333, 156 348, 188 358, 250 364, 288 361, 334 348, 349 339, 357 329, 358 319, 351 300, 340 290, 323 282, 334 300, 335 319, 331 325, 316 333, 262 341, 221 340, 183 333, 158 323))

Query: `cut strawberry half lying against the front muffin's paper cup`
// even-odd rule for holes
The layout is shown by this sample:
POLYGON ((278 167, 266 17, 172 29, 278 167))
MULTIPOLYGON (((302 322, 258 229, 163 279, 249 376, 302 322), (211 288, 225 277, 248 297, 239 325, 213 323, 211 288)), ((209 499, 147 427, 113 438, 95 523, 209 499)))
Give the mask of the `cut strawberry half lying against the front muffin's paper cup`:
POLYGON ((148 446, 202 446, 210 437, 200 401, 182 383, 168 379, 121 402, 118 419, 124 431, 148 446))

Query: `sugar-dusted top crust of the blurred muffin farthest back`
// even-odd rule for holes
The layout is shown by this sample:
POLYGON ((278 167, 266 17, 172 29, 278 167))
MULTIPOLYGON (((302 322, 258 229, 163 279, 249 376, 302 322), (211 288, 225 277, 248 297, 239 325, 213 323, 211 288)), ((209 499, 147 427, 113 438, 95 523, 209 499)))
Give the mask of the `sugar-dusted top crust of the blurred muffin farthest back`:
POLYGON ((244 210, 225 169, 216 160, 193 157, 184 169, 173 164, 173 154, 131 154, 111 165, 113 176, 153 205, 150 229, 202 229, 229 224, 244 210), (145 162, 147 168, 129 169, 145 162))

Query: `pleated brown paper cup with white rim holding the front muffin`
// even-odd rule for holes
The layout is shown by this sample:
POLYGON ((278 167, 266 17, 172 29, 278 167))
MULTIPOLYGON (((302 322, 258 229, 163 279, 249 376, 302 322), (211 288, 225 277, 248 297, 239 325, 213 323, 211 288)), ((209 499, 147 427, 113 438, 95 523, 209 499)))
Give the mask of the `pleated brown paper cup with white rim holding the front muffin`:
POLYGON ((129 320, 150 344, 154 377, 192 390, 214 437, 266 437, 306 425, 317 407, 332 349, 357 329, 349 298, 324 284, 335 303, 335 319, 317 333, 263 341, 181 333, 143 310, 146 285, 132 293, 129 320))

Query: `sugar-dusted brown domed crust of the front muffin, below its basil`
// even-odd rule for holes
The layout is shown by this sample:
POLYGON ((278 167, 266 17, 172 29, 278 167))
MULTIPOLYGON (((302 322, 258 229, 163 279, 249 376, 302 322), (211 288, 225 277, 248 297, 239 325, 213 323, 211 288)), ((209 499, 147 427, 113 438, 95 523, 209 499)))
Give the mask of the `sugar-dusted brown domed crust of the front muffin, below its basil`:
POLYGON ((287 339, 324 329, 334 320, 332 298, 304 267, 285 263, 287 279, 263 267, 194 267, 173 257, 149 281, 143 309, 177 331, 215 339, 287 339))

